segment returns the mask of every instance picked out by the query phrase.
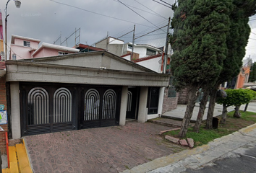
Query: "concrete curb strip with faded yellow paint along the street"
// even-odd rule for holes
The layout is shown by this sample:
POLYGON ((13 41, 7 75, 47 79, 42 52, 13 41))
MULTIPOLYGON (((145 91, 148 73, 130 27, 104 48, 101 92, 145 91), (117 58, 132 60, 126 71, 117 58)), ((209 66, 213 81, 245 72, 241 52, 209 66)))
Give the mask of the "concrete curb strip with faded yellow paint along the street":
POLYGON ((202 165, 208 164, 210 161, 218 159, 219 157, 233 151, 236 148, 239 148, 240 146, 244 146, 249 142, 255 141, 256 135, 253 136, 255 138, 252 138, 252 136, 244 136, 244 134, 250 133, 255 129, 256 123, 227 136, 216 138, 206 145, 198 146, 193 149, 187 149, 168 156, 163 156, 153 161, 149 161, 148 163, 133 167, 132 169, 124 170, 121 173, 156 173, 174 170, 175 172, 182 172, 185 171, 186 168, 195 169, 202 165), (232 143, 233 146, 227 145, 227 143, 232 143), (219 153, 217 153, 218 151, 219 153))

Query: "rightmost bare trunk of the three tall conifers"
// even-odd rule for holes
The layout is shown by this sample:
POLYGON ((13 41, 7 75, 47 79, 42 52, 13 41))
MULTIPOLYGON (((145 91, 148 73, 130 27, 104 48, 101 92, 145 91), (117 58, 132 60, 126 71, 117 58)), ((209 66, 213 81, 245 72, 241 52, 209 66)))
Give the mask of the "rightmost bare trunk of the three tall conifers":
POLYGON ((210 102, 208 107, 208 114, 207 114, 207 120, 206 120, 206 126, 207 129, 213 129, 213 112, 214 107, 216 103, 216 94, 218 91, 218 86, 214 86, 212 91, 210 92, 210 102))

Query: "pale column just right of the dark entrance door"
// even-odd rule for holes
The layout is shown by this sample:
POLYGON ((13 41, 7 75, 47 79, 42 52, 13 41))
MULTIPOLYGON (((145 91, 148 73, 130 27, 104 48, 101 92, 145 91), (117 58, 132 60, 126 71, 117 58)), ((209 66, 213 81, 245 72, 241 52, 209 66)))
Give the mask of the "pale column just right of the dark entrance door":
POLYGON ((147 112, 147 100, 148 100, 148 86, 140 87, 140 103, 138 112, 138 123, 146 122, 147 112))

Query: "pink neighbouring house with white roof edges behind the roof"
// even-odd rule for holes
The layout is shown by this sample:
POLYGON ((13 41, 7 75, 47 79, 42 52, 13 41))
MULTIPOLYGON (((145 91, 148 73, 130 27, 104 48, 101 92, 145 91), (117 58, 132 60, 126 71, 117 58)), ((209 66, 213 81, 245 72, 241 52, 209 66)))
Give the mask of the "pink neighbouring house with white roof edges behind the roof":
POLYGON ((80 50, 68 48, 61 45, 42 43, 38 48, 40 40, 12 35, 10 60, 20 60, 26 58, 38 58, 48 56, 62 56, 69 53, 77 53, 80 50))

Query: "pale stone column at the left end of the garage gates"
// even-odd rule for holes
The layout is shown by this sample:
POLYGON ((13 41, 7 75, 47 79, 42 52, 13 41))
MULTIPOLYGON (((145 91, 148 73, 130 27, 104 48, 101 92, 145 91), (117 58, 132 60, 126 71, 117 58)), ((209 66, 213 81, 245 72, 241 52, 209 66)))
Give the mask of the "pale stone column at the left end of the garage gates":
MULTIPOLYGON (((10 82, 11 111, 12 111, 12 138, 21 138, 20 133, 20 93, 19 82, 10 82)), ((7 112, 8 113, 8 112, 7 112)))

